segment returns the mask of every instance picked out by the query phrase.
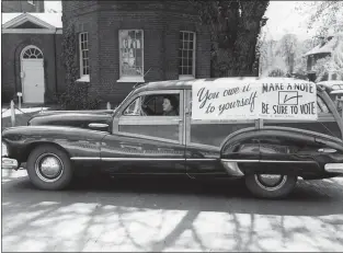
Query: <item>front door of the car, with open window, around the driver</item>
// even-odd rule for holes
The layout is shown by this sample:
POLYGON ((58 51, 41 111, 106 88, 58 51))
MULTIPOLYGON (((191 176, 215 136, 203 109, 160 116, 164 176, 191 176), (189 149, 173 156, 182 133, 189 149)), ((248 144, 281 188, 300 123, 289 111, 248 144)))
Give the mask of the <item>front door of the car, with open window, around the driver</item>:
POLYGON ((121 106, 103 139, 103 165, 117 173, 185 173, 183 91, 146 91, 121 106), (164 97, 176 115, 162 115, 164 97))

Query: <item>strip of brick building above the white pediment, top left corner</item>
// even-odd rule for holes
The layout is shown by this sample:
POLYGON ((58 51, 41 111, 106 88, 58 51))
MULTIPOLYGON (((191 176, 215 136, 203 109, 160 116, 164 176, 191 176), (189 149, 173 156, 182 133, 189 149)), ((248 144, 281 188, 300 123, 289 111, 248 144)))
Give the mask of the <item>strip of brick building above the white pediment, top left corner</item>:
POLYGON ((1 1, 1 12, 44 12, 44 1, 37 0, 2 0, 1 1))

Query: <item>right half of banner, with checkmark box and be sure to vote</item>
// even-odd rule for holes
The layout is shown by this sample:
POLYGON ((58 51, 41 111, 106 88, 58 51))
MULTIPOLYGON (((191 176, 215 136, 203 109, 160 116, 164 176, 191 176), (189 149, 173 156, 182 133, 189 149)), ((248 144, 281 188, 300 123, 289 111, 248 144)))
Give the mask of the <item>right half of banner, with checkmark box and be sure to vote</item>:
POLYGON ((261 118, 317 120, 317 88, 310 82, 262 83, 261 118))

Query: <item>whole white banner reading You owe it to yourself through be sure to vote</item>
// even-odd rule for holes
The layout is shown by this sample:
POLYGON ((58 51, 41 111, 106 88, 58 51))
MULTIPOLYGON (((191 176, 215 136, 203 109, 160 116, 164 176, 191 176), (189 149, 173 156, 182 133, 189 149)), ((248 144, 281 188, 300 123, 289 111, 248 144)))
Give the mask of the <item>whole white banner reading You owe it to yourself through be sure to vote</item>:
POLYGON ((192 94, 192 119, 317 120, 316 84, 306 81, 199 80, 192 94))

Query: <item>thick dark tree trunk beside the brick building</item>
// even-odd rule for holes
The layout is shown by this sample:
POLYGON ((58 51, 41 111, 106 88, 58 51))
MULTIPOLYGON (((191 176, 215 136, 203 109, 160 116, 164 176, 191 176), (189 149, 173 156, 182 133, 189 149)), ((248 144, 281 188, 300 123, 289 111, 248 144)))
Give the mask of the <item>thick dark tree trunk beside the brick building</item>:
POLYGON ((268 1, 219 1, 213 31, 211 76, 258 76, 256 44, 268 1))

